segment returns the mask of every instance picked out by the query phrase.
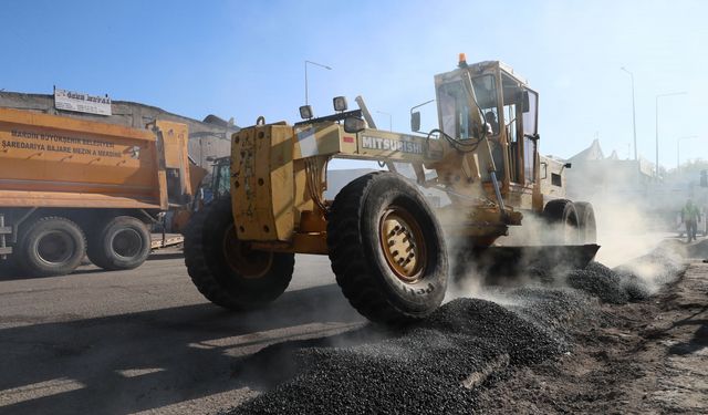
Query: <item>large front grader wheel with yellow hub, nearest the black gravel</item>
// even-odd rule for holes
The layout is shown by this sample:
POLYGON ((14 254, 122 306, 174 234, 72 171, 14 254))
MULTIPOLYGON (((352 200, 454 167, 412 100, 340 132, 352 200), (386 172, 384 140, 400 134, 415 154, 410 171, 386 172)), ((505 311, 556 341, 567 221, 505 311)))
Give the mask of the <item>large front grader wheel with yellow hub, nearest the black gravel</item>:
POLYGON ((400 324, 440 305, 448 259, 442 231, 418 189, 393 173, 346 185, 327 217, 332 271, 368 320, 400 324))

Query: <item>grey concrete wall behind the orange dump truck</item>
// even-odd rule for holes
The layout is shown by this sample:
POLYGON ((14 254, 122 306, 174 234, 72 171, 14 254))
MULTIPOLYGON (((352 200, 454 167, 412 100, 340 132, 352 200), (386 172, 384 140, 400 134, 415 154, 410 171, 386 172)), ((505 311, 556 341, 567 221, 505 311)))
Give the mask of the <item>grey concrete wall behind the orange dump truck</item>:
POLYGON ((230 136, 239 129, 237 126, 228 126, 215 116, 208 116, 205 118, 208 122, 201 122, 166 112, 156 106, 128 101, 114 101, 112 103, 113 115, 104 116, 56 110, 54 95, 0 92, 0 107, 37 111, 134 128, 145 128, 146 124, 155 120, 184 123, 189 126, 189 155, 198 165, 209 170, 211 163, 207 158, 228 156, 231 152, 230 136))

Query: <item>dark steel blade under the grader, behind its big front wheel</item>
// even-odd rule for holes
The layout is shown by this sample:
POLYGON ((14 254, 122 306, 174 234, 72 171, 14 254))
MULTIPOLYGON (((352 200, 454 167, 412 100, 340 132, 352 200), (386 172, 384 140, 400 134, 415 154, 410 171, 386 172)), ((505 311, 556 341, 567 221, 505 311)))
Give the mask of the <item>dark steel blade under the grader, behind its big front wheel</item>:
POLYGON ((585 268, 600 249, 598 245, 554 245, 525 247, 488 247, 473 249, 475 268, 489 278, 520 276, 528 272, 560 272, 585 268))

